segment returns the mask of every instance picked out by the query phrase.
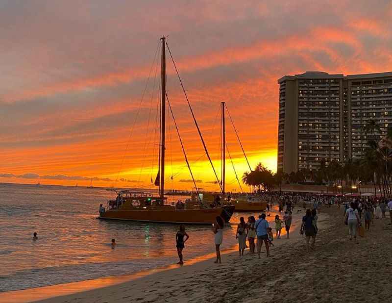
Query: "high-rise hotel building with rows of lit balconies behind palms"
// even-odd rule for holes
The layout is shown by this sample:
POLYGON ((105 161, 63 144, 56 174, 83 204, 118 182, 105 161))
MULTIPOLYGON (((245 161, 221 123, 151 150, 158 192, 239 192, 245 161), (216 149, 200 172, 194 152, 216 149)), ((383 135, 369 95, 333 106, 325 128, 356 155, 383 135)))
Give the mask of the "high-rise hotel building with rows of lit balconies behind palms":
POLYGON ((370 119, 392 123, 392 72, 330 75, 306 72, 279 84, 278 170, 317 169, 321 161, 358 159, 370 119))

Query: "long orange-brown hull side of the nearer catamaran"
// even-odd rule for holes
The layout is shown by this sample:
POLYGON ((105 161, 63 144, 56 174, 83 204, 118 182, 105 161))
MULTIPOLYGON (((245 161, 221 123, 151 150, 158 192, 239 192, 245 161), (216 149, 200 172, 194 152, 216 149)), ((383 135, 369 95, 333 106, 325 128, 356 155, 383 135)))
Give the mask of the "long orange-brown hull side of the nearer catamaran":
MULTIPOLYGON (((217 216, 228 216, 223 208, 172 209, 172 210, 124 210, 112 209, 98 217, 101 220, 125 220, 174 224, 212 224, 217 216)), ((230 220, 231 215, 228 220, 230 220)), ((224 217, 223 217, 224 218, 224 217)), ((225 219, 225 218, 224 218, 225 219)))

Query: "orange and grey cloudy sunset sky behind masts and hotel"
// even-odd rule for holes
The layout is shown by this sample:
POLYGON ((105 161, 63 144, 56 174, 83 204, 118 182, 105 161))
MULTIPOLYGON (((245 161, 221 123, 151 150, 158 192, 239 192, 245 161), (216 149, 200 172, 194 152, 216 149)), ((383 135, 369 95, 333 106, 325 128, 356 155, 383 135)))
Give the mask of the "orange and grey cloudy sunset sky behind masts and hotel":
MULTIPOLYGON (((0 182, 150 186, 162 35, 219 175, 221 101, 251 166, 274 171, 278 78, 392 71, 390 0, 212 2, 0 0, 0 182)), ((169 60, 197 186, 217 190, 169 60)), ((190 189, 171 120, 167 139, 167 188, 190 189)), ((247 165, 229 121, 227 142, 240 177, 247 165)), ((226 181, 238 190, 228 156, 226 181)))

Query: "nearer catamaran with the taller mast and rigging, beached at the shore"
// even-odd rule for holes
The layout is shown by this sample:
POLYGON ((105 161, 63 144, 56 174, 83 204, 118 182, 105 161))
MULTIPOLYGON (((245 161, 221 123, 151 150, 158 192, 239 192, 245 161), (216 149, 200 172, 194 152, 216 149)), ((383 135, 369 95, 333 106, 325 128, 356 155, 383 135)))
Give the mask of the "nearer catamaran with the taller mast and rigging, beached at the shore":
MULTIPOLYGON (((166 134, 166 104, 168 104, 170 113, 173 118, 174 126, 176 128, 179 141, 181 143, 182 151, 185 157, 185 162, 192 177, 196 197, 199 197, 198 188, 196 186, 195 178, 193 177, 192 170, 185 153, 184 145, 182 143, 180 133, 172 112, 168 94, 166 91, 166 48, 170 52, 166 38, 161 38, 161 100, 160 100, 160 144, 159 144, 159 170, 155 180, 155 185, 159 186, 159 195, 154 195, 145 192, 133 192, 129 190, 114 190, 117 194, 116 199, 109 200, 106 206, 100 206, 98 219, 114 219, 114 220, 127 220, 127 221, 143 221, 143 222, 160 222, 160 223, 176 223, 176 224, 211 224, 216 222, 216 217, 221 216, 226 222, 231 218, 234 211, 234 205, 213 206, 205 203, 202 199, 196 200, 187 199, 185 201, 178 201, 175 205, 167 202, 165 197, 165 134, 166 134)), ((172 57, 172 54, 170 52, 172 57)), ((174 60, 172 62, 180 79, 178 70, 175 66, 174 60)), ((185 96, 185 90, 183 90, 185 96)), ((187 96, 186 96, 187 97, 187 96)), ((201 135, 200 129, 197 125, 195 115, 188 98, 189 108, 191 110, 194 122, 196 124, 198 134, 203 143, 205 152, 210 160, 206 145, 201 135)))

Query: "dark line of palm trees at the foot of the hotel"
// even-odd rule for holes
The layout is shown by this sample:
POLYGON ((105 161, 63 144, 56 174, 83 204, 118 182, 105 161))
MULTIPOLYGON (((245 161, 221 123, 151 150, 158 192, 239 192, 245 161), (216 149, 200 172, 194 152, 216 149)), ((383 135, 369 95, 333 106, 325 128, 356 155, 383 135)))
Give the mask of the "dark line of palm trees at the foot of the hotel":
POLYGON ((374 191, 379 189, 382 196, 392 197, 392 127, 383 134, 374 120, 369 120, 363 127, 367 137, 367 146, 361 157, 355 160, 331 161, 329 165, 320 161, 319 169, 301 169, 285 174, 282 171, 272 173, 262 163, 251 172, 245 172, 242 181, 253 190, 271 190, 282 184, 308 184, 360 186, 371 184, 374 191))

